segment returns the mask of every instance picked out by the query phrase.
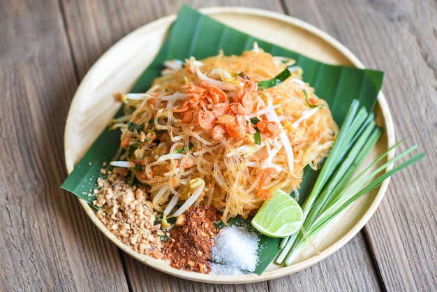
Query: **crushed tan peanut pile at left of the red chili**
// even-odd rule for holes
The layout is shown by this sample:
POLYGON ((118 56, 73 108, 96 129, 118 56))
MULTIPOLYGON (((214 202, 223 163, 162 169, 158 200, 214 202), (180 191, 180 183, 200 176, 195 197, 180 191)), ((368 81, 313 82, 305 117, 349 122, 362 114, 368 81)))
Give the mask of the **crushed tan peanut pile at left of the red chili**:
POLYGON ((101 207, 97 217, 121 242, 140 254, 162 258, 161 224, 149 195, 141 187, 124 180, 127 170, 114 168, 107 180, 99 179, 94 205, 101 207))

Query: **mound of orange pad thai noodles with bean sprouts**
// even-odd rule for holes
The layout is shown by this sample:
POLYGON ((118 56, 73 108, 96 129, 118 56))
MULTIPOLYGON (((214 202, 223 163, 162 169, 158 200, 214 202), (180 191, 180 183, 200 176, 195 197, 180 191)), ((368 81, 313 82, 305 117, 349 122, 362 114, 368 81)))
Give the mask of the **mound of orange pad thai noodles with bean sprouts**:
POLYGON ((329 154, 338 127, 294 60, 255 44, 165 66, 147 92, 121 96, 126 152, 112 161, 149 187, 163 223, 191 205, 247 217, 275 189, 298 194, 304 168, 329 154))

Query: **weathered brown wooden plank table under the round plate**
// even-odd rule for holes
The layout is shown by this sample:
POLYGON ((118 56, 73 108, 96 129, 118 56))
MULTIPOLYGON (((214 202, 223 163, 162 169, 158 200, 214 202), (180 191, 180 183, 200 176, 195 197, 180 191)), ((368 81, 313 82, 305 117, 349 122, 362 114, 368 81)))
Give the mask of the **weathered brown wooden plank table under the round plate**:
POLYGON ((1 0, 0 290, 437 291, 436 31, 435 0, 1 0), (60 189, 66 115, 84 74, 182 2, 292 15, 385 71, 397 140, 410 136, 427 157, 392 177, 362 232, 325 261, 257 284, 178 279, 119 251, 60 189))

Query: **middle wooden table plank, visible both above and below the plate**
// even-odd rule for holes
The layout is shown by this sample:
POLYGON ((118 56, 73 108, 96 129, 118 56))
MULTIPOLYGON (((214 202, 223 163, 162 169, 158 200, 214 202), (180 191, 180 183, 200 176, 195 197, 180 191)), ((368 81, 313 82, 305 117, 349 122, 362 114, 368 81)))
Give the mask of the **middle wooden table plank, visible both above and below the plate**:
MULTIPOLYGON (((280 1, 184 1, 196 8, 206 6, 250 6, 283 12, 280 1)), ((172 2, 161 1, 133 1, 124 3, 123 1, 64 1, 64 10, 68 35, 71 38, 73 55, 77 64, 77 71, 80 78, 86 73, 87 69, 96 59, 107 50, 112 43, 127 34, 129 31, 140 27, 142 24, 155 20, 170 13, 177 13, 180 3, 170 5, 172 2), (98 9, 97 9, 98 8, 98 9), (129 15, 126 21, 121 15, 129 15), (118 20, 118 18, 122 18, 118 20), (117 20, 117 21, 112 21, 117 20)), ((314 11, 313 4, 299 3, 300 10, 314 11)), ((316 10, 318 13, 318 10, 316 10)), ((311 13, 309 13, 311 15, 311 13)), ((311 18, 318 20, 318 18, 311 18)), ((89 223, 91 224, 91 223, 89 223)), ((129 285, 136 290, 145 291, 204 291, 212 290, 216 286, 209 284, 199 284, 194 282, 170 277, 161 272, 138 263, 129 256, 123 254, 126 275, 128 275, 129 285)), ((331 273, 331 272, 330 272, 331 273)), ((364 240, 361 235, 355 238, 350 244, 346 244, 341 251, 327 260, 304 272, 290 275, 281 280, 275 280, 270 286, 272 291, 278 290, 281 286, 314 289, 314 279, 318 279, 318 287, 331 287, 333 290, 341 290, 343 279, 349 280, 351 288, 368 287, 369 290, 378 289, 378 280, 373 272, 373 266, 367 254, 364 240), (341 272, 335 272, 334 277, 327 277, 327 270, 336 270, 341 266, 341 272), (355 286, 356 285, 356 286, 355 286)), ((265 285, 265 284, 258 284, 265 285)), ((238 286, 222 286, 223 291, 233 290, 253 290, 253 284, 238 286)), ((265 288, 265 286, 262 286, 265 288)), ((256 290, 256 289, 255 289, 256 290)), ((266 289, 261 289, 266 290, 266 289)), ((303 289, 306 290, 306 289, 303 289)))

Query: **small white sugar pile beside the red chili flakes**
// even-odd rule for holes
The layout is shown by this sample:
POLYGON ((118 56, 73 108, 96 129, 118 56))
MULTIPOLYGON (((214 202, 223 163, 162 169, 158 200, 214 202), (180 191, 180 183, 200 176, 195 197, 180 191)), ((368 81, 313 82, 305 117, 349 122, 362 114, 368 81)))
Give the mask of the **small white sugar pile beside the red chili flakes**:
POLYGON ((223 228, 212 247, 213 274, 239 275, 253 272, 258 263, 258 235, 242 226, 223 228))

